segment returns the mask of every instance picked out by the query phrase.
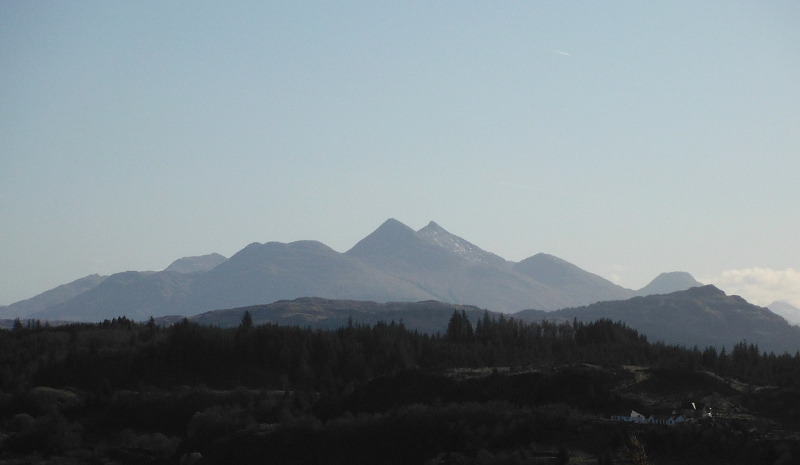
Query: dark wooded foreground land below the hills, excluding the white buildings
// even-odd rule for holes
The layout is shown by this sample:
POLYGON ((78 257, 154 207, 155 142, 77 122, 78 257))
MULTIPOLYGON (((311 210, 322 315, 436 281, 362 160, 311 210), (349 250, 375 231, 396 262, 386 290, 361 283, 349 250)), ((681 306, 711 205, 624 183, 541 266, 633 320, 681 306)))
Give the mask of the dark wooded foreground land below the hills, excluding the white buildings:
POLYGON ((653 464, 797 463, 799 386, 798 355, 651 344, 609 320, 16 325, 0 461, 606 464, 641 445, 653 464), (713 415, 610 420, 692 402, 713 415))

